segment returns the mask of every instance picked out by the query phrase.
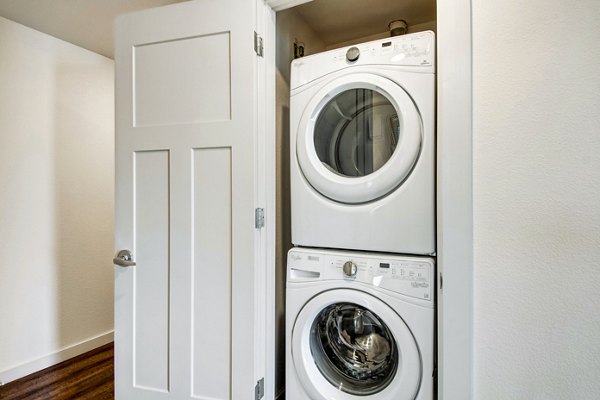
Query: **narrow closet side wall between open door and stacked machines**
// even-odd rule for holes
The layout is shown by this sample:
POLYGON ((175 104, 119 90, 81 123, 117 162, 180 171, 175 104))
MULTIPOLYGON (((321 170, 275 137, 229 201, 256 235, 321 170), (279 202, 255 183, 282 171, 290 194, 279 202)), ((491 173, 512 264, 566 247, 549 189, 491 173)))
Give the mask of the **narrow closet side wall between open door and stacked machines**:
POLYGON ((276 380, 275 391, 285 386, 285 269, 287 251, 292 247, 290 228, 290 63, 294 59, 293 43, 305 44, 305 55, 325 50, 325 44, 317 37, 306 21, 294 9, 277 13, 277 71, 276 71, 276 231, 275 265, 276 298, 276 380))

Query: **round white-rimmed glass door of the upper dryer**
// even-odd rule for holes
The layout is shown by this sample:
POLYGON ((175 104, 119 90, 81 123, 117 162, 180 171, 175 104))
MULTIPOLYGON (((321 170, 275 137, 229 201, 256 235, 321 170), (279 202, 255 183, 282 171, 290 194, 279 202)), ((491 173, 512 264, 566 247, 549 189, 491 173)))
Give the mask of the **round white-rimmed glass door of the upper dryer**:
POLYGON ((323 86, 308 103, 296 155, 319 193, 359 204, 406 180, 422 137, 421 116, 402 87, 379 75, 349 74, 323 86))

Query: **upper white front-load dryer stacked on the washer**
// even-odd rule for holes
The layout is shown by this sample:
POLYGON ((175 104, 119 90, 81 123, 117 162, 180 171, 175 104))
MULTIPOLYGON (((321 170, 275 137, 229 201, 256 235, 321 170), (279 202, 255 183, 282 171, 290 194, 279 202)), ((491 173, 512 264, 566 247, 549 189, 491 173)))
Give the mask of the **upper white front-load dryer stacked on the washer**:
POLYGON ((435 36, 294 60, 292 243, 435 253, 435 36))

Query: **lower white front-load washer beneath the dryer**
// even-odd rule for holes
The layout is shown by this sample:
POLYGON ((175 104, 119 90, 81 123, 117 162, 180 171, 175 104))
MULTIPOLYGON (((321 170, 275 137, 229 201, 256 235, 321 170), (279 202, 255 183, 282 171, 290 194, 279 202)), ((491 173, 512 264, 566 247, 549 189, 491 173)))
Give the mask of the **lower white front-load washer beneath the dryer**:
POLYGON ((290 250, 286 398, 433 400, 434 282, 427 257, 290 250))

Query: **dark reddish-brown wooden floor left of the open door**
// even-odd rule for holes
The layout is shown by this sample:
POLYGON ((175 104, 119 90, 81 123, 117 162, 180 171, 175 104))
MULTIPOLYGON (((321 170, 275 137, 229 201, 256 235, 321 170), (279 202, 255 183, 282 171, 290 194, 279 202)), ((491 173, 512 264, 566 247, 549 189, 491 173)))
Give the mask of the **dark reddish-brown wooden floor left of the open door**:
POLYGON ((0 386, 1 400, 113 400, 114 344, 0 386))

